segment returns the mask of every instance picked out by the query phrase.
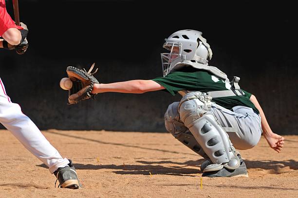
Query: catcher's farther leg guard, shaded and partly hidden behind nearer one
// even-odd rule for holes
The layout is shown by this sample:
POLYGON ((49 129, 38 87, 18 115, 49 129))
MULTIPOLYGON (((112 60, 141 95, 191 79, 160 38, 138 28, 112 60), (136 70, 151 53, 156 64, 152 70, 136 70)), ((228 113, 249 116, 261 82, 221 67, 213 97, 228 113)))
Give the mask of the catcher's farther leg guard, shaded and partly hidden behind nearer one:
POLYGON ((182 142, 186 147, 190 148, 202 157, 208 158, 197 140, 180 120, 178 105, 179 102, 173 102, 168 106, 168 110, 165 114, 165 126, 167 131, 170 132, 177 140, 182 142))

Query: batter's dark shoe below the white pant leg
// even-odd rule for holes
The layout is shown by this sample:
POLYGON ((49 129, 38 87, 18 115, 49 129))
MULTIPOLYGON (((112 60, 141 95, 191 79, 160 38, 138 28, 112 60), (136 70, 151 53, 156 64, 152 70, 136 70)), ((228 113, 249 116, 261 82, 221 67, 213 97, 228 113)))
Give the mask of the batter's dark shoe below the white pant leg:
MULTIPOLYGON (((78 189, 81 187, 81 184, 78 180, 78 177, 75 172, 75 166, 73 165, 72 161, 69 160, 68 166, 58 168, 54 174, 57 178, 56 182, 59 181, 59 185, 61 188, 71 188, 71 189, 78 189)), ((56 187, 55 182, 55 187, 56 187)))

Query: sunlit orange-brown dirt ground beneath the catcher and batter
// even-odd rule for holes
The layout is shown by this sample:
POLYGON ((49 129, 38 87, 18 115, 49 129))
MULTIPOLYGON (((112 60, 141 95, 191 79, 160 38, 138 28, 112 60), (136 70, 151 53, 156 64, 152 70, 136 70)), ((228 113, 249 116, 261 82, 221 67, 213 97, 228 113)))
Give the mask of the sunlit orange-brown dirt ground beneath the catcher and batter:
POLYGON ((55 188, 56 178, 8 131, 0 130, 0 197, 227 198, 298 197, 298 136, 277 153, 262 137, 242 150, 249 178, 203 178, 203 159, 168 133, 42 131, 73 160, 83 188, 55 188), (151 175, 150 175, 151 174, 151 175))

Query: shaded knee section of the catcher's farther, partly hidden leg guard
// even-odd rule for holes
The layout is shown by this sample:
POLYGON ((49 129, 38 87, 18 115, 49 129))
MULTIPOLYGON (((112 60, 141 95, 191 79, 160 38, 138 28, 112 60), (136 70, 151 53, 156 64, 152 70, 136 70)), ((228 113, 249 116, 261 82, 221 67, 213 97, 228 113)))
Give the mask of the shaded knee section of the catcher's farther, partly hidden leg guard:
POLYGON ((165 114, 166 129, 174 137, 177 137, 180 133, 187 131, 184 123, 180 120, 178 105, 179 102, 173 102, 172 104, 170 104, 165 114))

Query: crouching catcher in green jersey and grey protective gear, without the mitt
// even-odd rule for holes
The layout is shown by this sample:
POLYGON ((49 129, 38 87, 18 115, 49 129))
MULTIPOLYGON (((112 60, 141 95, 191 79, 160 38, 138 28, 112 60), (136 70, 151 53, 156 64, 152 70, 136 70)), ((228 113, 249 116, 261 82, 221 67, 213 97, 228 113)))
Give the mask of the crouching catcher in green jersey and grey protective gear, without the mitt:
POLYGON ((239 77, 209 66, 212 50, 202 32, 181 30, 171 34, 161 53, 163 77, 152 80, 95 83, 91 93, 179 93, 168 106, 165 126, 178 141, 205 158, 203 177, 247 177, 239 150, 256 146, 261 134, 280 152, 284 138, 266 121, 254 95, 240 88, 239 77))

